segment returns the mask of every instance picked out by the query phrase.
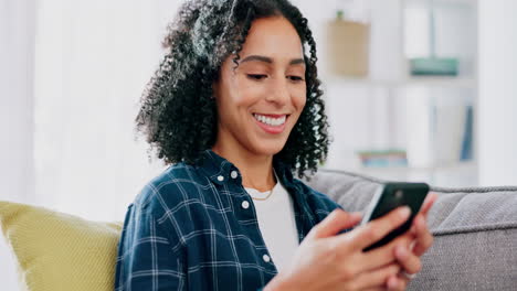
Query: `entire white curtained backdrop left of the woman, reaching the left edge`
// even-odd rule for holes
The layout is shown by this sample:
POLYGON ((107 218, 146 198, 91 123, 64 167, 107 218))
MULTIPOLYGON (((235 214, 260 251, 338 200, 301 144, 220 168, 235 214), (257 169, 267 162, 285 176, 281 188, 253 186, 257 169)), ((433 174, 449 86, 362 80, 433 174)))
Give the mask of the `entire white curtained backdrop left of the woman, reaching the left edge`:
MULTIPOLYGON (((123 220, 163 165, 134 118, 181 1, 0 0, 0 200, 123 220)), ((2 290, 18 290, 0 244, 2 290)))

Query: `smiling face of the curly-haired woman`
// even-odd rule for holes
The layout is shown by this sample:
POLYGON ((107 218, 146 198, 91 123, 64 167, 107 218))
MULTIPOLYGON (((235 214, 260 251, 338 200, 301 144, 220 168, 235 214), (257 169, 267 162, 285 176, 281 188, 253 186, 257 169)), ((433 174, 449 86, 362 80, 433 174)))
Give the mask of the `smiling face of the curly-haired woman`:
POLYGON ((306 101, 303 46, 285 18, 253 21, 235 68, 233 55, 214 84, 220 152, 279 152, 306 101))

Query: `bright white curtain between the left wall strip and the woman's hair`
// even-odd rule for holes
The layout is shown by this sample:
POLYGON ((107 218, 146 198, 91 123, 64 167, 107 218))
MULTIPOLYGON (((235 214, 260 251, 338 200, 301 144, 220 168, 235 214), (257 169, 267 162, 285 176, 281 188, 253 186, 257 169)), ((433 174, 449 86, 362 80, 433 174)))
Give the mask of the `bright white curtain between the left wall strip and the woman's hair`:
POLYGON ((35 41, 34 202, 122 220, 161 162, 135 116, 179 1, 40 0, 35 41))

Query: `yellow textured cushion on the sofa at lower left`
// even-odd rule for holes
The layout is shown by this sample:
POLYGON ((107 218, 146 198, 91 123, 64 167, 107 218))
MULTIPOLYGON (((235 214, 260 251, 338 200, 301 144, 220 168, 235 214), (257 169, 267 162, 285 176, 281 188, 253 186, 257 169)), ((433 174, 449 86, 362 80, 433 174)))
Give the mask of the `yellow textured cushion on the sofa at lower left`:
POLYGON ((0 201, 0 224, 18 259, 22 289, 114 290, 120 223, 0 201))

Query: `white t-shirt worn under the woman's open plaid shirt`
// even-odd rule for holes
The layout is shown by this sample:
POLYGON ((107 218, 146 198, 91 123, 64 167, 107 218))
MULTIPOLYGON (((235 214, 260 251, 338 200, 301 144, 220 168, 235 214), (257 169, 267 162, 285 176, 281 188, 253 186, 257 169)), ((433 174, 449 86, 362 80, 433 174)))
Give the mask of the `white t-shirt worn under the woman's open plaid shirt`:
POLYGON ((291 262, 299 245, 293 198, 279 182, 273 187, 271 195, 270 191, 245 190, 253 198, 262 237, 279 272, 291 262))

